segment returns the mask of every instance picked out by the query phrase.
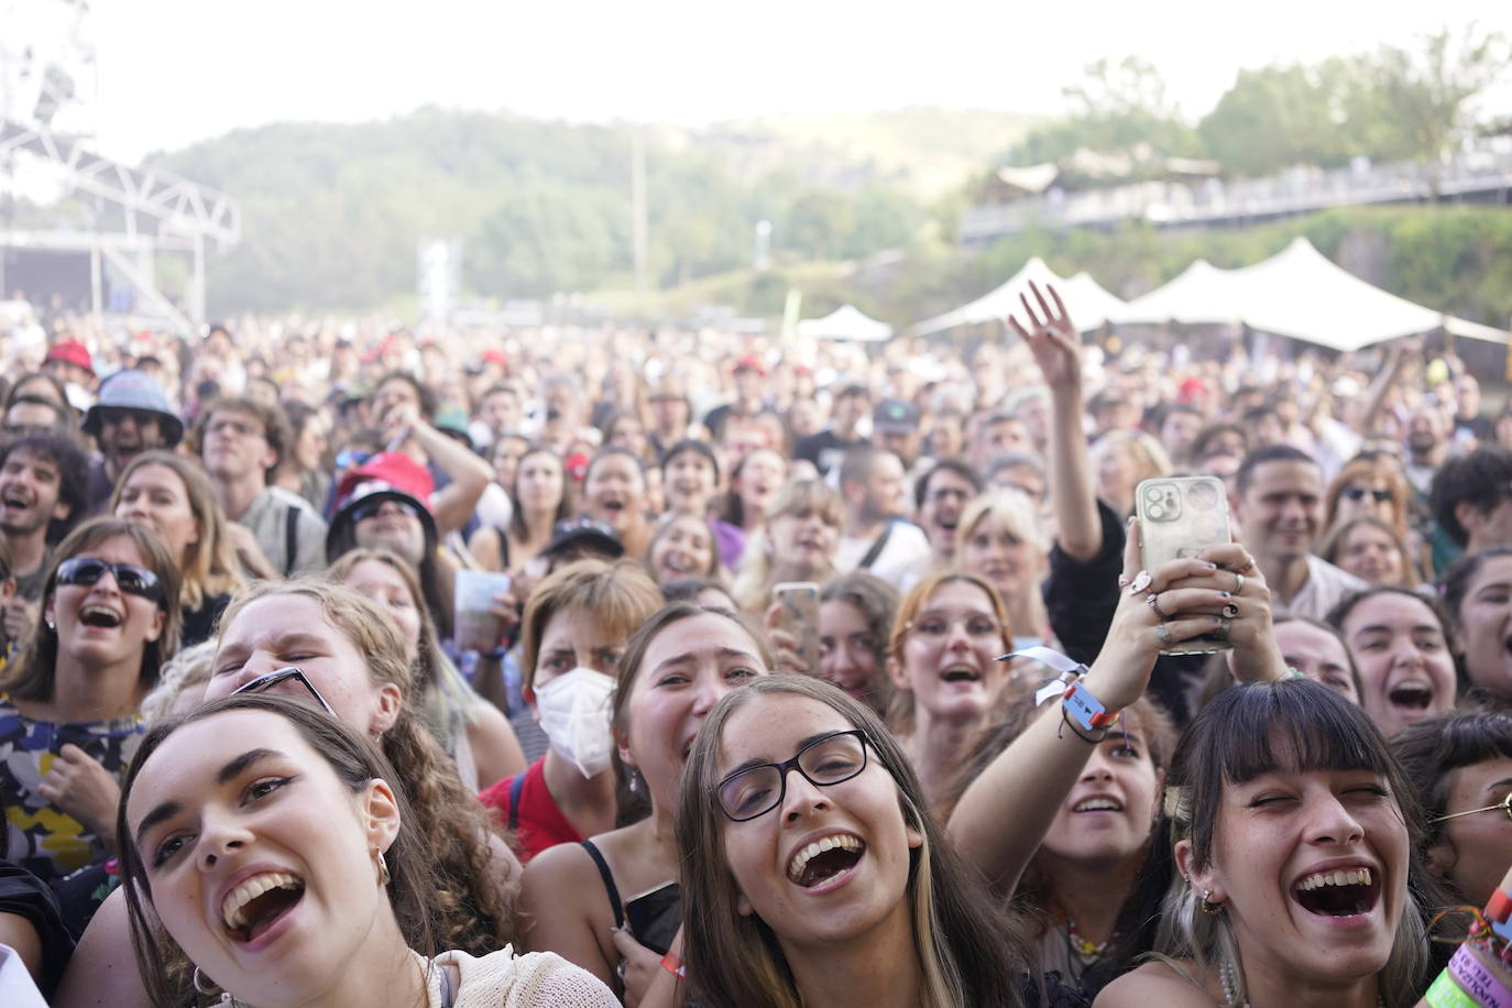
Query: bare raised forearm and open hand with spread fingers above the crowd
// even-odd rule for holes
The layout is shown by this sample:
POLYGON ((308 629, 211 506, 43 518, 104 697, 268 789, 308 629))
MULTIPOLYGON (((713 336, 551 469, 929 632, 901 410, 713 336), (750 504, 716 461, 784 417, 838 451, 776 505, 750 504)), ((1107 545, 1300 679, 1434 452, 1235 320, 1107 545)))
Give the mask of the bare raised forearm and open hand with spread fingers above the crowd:
POLYGON ((1074 561, 1086 562, 1102 552, 1102 520, 1092 490, 1087 438, 1081 431, 1081 335, 1055 287, 1049 287, 1054 311, 1039 287, 1033 283, 1030 287, 1045 317, 1040 319, 1021 295, 1030 326, 1025 329, 1015 316, 1009 316, 1009 326, 1030 348, 1049 387, 1049 496, 1060 549, 1074 561))

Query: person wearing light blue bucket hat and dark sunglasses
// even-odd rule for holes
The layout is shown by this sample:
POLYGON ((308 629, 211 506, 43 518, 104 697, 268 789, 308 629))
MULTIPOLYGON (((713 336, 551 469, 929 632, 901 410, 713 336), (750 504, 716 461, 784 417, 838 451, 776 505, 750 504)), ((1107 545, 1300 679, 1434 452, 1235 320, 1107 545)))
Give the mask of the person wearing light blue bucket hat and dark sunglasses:
POLYGON ((100 400, 85 414, 83 429, 100 449, 89 462, 89 514, 110 502, 127 462, 154 447, 174 447, 184 434, 163 387, 139 370, 116 372, 100 385, 100 400))

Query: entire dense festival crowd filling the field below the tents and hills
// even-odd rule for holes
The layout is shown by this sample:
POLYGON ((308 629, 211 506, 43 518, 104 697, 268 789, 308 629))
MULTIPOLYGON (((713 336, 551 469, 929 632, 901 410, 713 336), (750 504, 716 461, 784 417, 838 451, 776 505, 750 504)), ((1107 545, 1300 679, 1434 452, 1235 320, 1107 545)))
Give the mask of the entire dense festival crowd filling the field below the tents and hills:
POLYGON ((60 1008, 1512 1003, 1512 407, 1204 348, 0 332, 0 945, 60 1008), (1232 535, 1149 559, 1184 476, 1232 535))

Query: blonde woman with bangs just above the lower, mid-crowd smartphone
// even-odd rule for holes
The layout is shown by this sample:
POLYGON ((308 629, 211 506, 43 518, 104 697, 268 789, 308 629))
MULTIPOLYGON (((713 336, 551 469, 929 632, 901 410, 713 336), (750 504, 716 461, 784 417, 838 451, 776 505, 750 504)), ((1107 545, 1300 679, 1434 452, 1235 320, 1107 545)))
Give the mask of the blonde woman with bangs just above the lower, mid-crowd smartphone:
POLYGON ((745 612, 765 614, 773 586, 789 580, 826 582, 835 576, 835 549, 845 508, 821 479, 794 479, 773 497, 761 527, 745 543, 730 594, 745 612))

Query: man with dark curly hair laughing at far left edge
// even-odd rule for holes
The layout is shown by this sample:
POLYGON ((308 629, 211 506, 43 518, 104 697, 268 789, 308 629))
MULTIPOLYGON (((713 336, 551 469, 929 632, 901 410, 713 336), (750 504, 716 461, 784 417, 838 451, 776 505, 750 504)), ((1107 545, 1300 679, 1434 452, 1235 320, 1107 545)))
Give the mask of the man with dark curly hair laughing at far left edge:
POLYGON ((8 642, 36 624, 51 547, 83 512, 88 459, 71 435, 30 434, 0 447, 0 540, 17 592, 5 603, 8 642))

